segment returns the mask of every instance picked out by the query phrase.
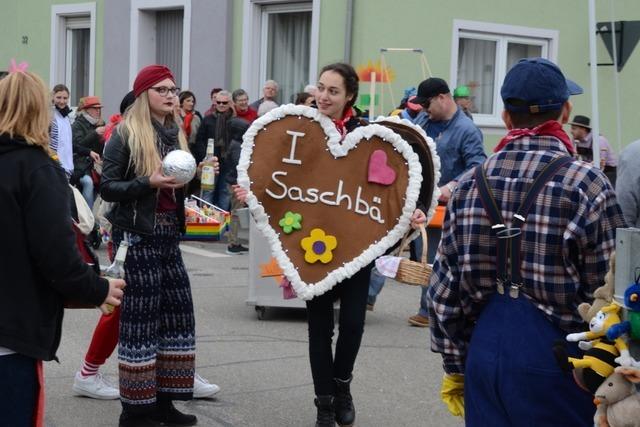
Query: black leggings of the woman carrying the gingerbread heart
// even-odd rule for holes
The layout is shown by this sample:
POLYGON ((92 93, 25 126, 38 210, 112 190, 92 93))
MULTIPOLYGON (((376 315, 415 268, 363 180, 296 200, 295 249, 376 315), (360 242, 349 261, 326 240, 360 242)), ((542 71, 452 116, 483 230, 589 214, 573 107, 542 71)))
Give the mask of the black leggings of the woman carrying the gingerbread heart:
POLYGON ((333 378, 349 379, 358 356, 369 291, 369 264, 329 292, 307 301, 309 360, 317 396, 333 395, 333 378), (336 354, 333 357, 333 302, 340 299, 340 318, 336 354))

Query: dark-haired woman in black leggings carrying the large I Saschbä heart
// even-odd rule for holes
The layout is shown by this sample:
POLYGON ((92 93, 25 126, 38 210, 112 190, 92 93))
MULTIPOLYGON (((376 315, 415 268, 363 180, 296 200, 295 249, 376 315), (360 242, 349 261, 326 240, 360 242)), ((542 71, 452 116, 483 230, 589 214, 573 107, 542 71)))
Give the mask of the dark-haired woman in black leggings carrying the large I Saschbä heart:
MULTIPOLYGON (((335 63, 322 68, 318 79, 316 103, 318 111, 329 117, 342 138, 367 123, 353 115, 358 97, 358 74, 349 64, 335 63)), ((318 145, 318 149, 325 148, 318 145)), ((236 196, 246 201, 247 190, 236 186, 236 196)), ((416 210, 412 225, 425 222, 416 210)), ((309 324, 309 359, 313 376, 316 427, 351 426, 355 408, 350 391, 353 367, 364 332, 364 320, 372 264, 336 284, 322 295, 306 302, 309 324), (340 300, 339 334, 335 354, 332 350, 334 302, 340 300)))

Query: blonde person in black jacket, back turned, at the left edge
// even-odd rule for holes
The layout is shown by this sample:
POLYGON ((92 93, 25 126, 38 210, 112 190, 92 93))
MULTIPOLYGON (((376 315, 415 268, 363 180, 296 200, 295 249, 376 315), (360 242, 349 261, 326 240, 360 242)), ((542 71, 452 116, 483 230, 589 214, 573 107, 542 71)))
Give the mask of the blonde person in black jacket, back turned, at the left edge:
POLYGON ((124 286, 80 258, 67 177, 48 149, 48 104, 35 74, 15 67, 0 80, 2 425, 43 421, 42 361, 56 359, 63 301, 119 305, 124 286))

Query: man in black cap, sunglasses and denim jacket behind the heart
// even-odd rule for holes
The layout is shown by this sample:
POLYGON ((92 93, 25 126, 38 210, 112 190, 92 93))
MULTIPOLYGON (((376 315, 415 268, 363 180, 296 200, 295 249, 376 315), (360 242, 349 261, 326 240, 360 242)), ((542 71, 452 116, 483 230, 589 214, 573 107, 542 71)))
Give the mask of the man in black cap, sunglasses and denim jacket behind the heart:
MULTIPOLYGON (((460 175, 487 158, 482 144, 482 132, 455 103, 449 85, 440 78, 432 77, 420 83, 418 94, 411 102, 421 105, 429 116, 423 129, 436 143, 436 152, 440 157, 439 202, 446 204, 460 175)), ((431 263, 442 232, 440 228, 430 227, 427 234, 427 260, 431 263)), ((411 256, 412 259, 418 260, 422 253, 422 239, 418 237, 414 242, 411 246, 411 256)), ((429 325, 426 295, 427 288, 422 287, 420 309, 408 319, 412 326, 429 325)))

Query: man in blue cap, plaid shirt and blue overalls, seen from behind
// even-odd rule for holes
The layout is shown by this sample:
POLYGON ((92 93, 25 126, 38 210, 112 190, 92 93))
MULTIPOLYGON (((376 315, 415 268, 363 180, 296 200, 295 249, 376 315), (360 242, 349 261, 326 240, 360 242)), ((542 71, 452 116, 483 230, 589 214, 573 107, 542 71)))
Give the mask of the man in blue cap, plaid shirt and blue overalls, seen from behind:
MULTIPOLYGON (((505 136, 463 174, 447 206, 428 291, 442 400, 474 426, 592 426, 592 396, 561 371, 556 340, 604 282, 625 222, 611 184, 574 161, 560 68, 522 59, 501 89, 505 136)), ((571 343, 570 354, 577 354, 571 343)))

